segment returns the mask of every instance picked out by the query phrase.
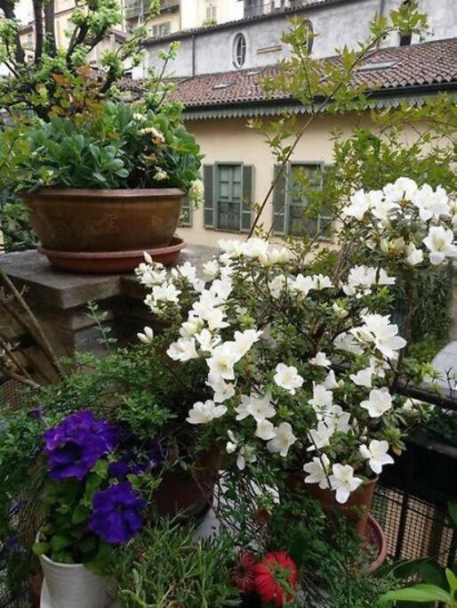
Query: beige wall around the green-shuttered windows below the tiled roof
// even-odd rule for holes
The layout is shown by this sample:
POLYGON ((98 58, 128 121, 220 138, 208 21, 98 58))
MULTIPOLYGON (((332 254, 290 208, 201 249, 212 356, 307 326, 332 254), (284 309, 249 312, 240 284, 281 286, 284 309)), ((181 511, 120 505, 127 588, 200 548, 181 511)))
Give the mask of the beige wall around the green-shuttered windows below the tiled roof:
MULTIPOLYGON (((299 118, 299 124, 307 118, 299 118)), ((332 130, 338 127, 343 134, 349 134, 356 122, 356 118, 351 116, 318 116, 299 142, 292 160, 331 163, 332 130)), ((253 200, 261 202, 265 198, 273 179, 275 161, 262 135, 248 128, 246 119, 188 121, 186 126, 200 144, 204 164, 241 162, 253 165, 253 200)), ((181 227, 178 235, 188 243, 201 245, 216 245, 219 239, 245 239, 245 233, 204 228, 203 214, 202 207, 194 209, 192 227, 181 227)), ((269 201, 262 215, 262 223, 267 230, 271 226, 272 214, 269 201)))

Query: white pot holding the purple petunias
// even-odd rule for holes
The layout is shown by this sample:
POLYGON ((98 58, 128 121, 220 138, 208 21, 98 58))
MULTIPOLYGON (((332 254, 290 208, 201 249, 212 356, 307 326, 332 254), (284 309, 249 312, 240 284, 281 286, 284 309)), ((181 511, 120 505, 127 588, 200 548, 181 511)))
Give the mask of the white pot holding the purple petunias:
POLYGON ((82 563, 56 563, 45 555, 40 555, 40 563, 44 574, 42 606, 107 608, 111 605, 108 579, 93 574, 82 563))

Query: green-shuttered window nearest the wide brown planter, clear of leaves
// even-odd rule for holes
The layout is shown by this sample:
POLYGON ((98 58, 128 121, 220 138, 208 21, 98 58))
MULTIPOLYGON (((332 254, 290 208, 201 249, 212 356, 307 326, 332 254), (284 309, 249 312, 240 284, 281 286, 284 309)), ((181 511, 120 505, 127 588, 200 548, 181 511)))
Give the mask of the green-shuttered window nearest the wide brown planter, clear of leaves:
POLYGON ((253 202, 253 166, 217 163, 204 166, 204 226, 249 231, 253 202))

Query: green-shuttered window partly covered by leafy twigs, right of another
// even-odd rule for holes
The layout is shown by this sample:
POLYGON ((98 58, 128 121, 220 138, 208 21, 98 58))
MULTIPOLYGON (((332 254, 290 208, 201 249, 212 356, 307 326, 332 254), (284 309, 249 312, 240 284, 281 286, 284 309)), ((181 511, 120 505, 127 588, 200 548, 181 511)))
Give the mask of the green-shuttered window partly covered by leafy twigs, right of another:
MULTIPOLYGON (((279 166, 275 167, 275 175, 279 166)), ((332 215, 322 209, 314 217, 305 217, 307 191, 320 190, 325 178, 325 167, 320 163, 290 163, 281 174, 273 192, 273 231, 289 236, 315 236, 325 233, 332 215)), ((330 226, 329 226, 330 227, 330 226)))

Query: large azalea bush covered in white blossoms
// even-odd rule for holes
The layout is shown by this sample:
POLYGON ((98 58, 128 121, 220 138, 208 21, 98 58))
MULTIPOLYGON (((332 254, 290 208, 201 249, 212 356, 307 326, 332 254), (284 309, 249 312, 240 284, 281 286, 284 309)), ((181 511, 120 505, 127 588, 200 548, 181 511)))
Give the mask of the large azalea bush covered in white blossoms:
POLYGON ((150 258, 137 274, 167 325, 156 338, 145 328, 140 340, 166 353, 188 387, 186 422, 202 444, 223 445, 240 471, 300 469, 304 482, 345 503, 393 462, 424 414, 397 393, 400 383, 421 382, 424 369, 405 357, 391 320, 389 268, 429 270, 457 249, 445 192, 405 178, 357 192, 341 216, 338 256, 222 240, 204 278, 188 262, 168 274, 150 258), (371 265, 351 265, 361 239, 371 265))

